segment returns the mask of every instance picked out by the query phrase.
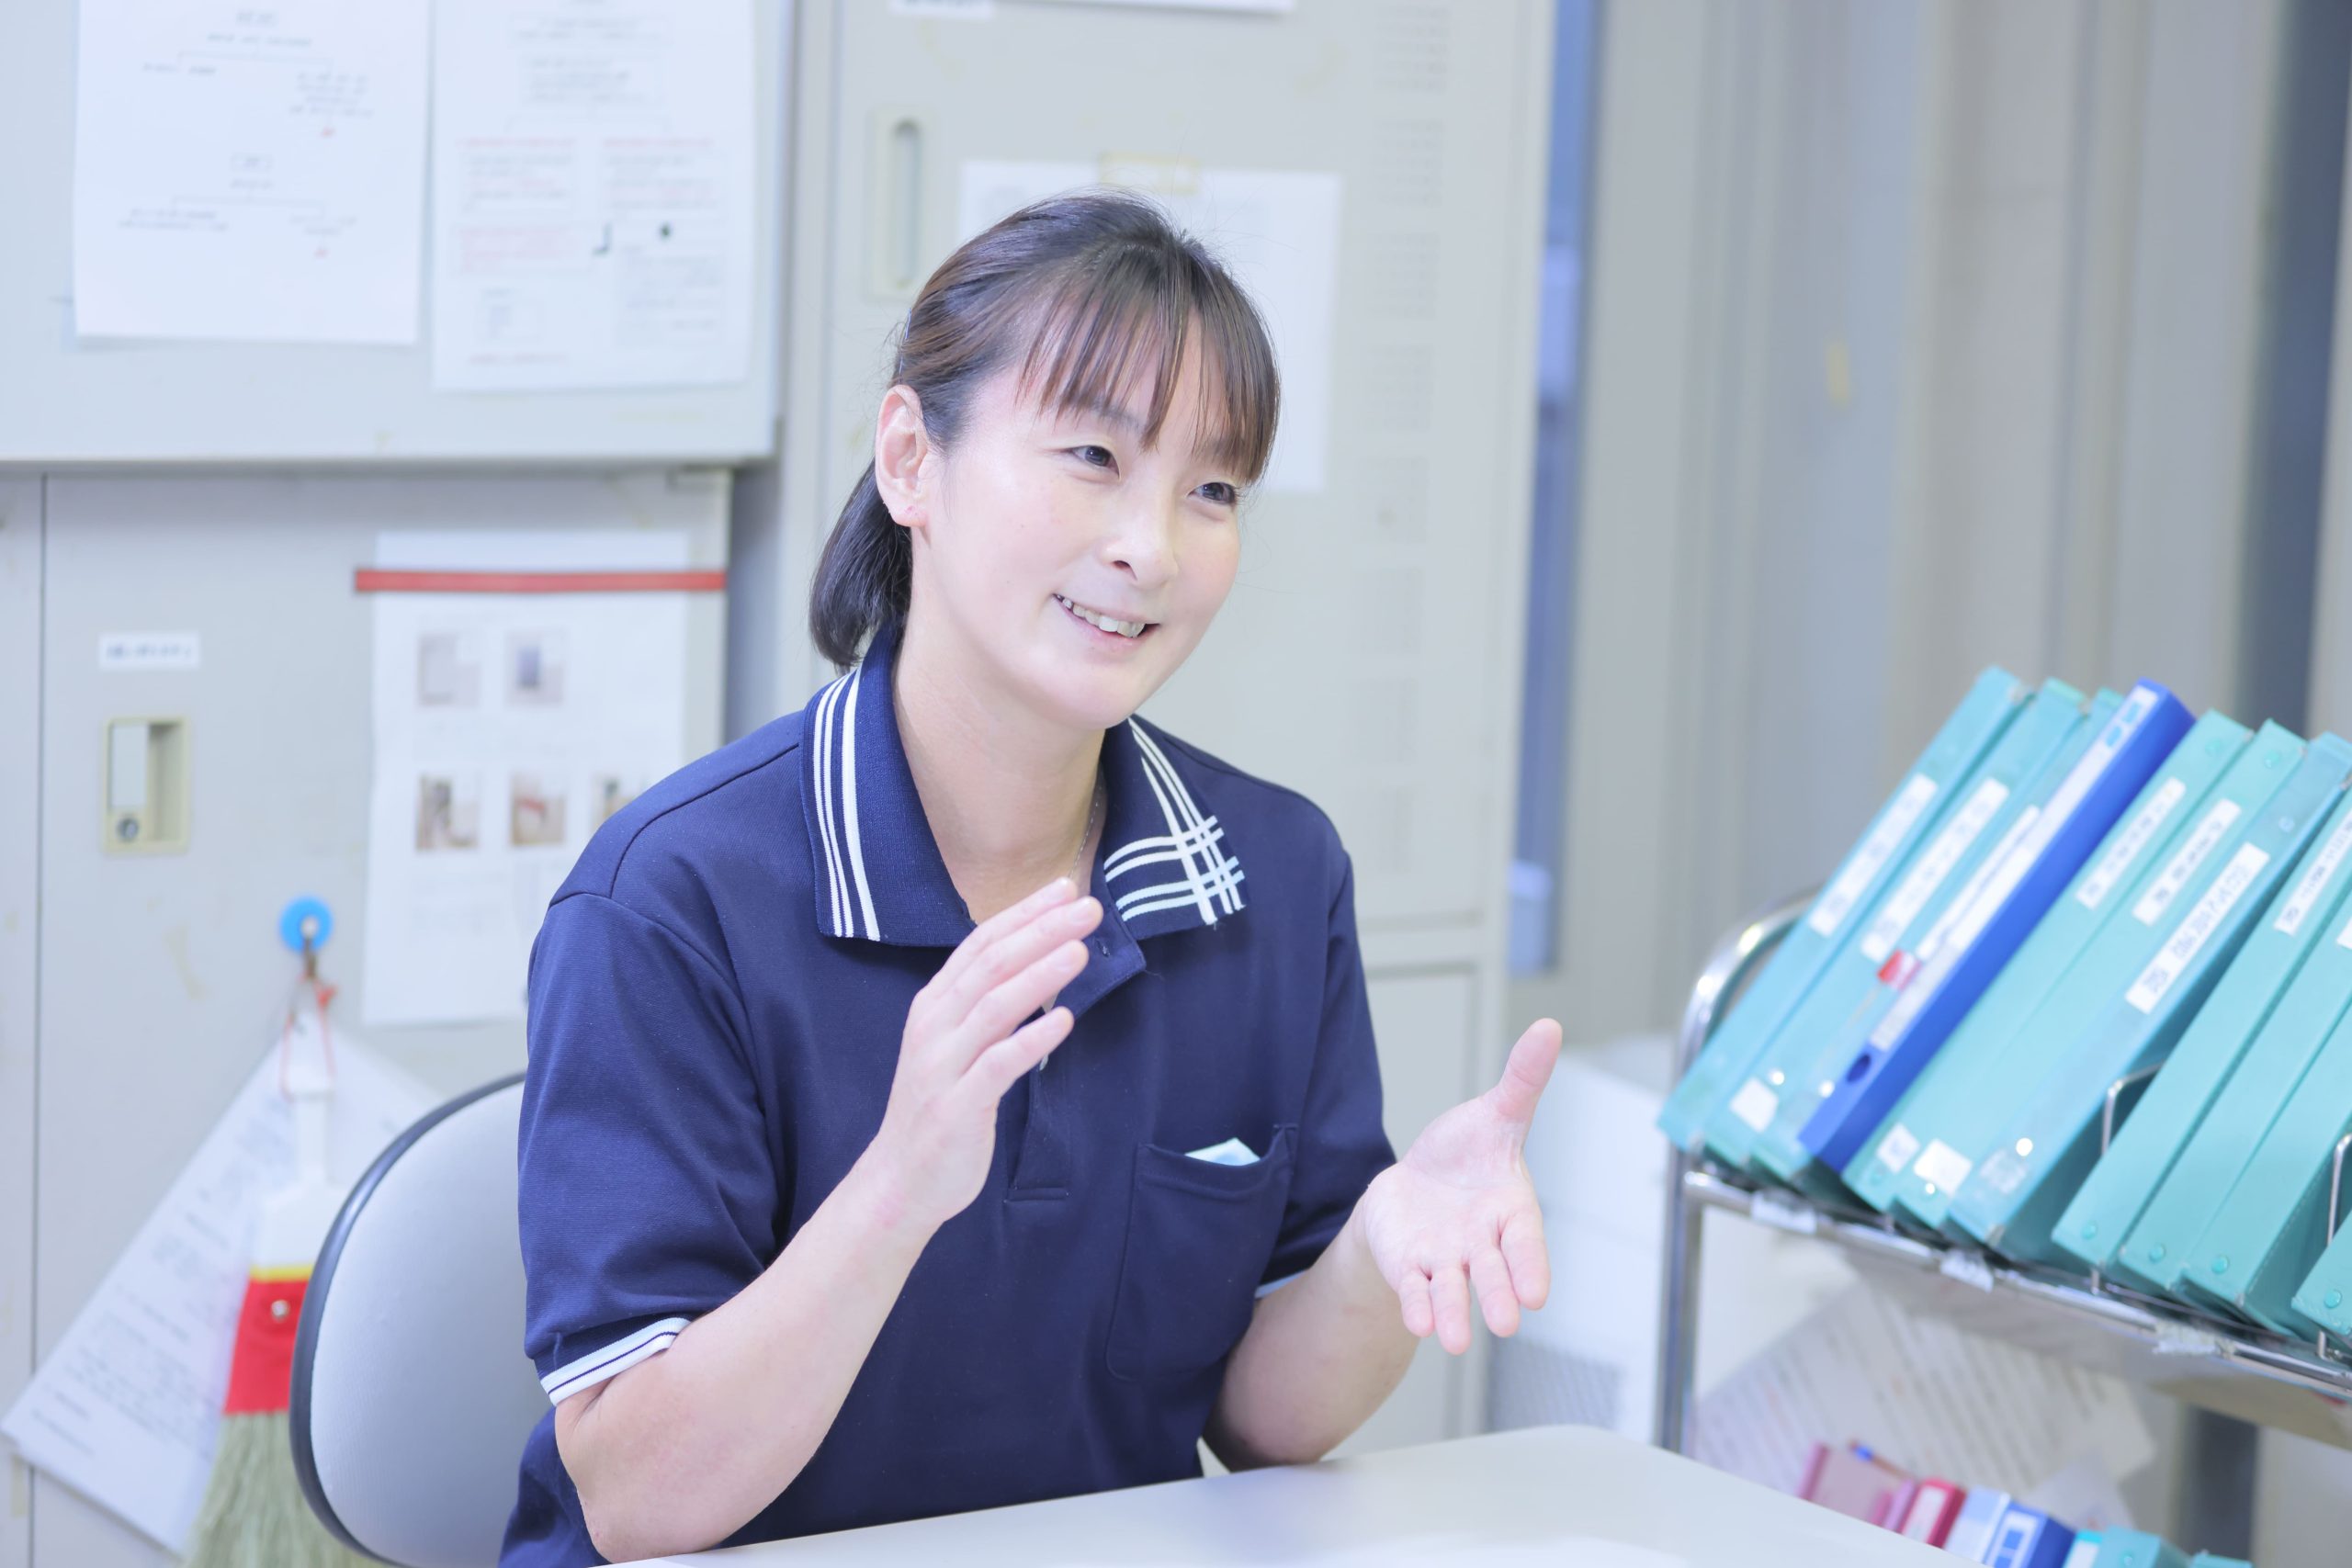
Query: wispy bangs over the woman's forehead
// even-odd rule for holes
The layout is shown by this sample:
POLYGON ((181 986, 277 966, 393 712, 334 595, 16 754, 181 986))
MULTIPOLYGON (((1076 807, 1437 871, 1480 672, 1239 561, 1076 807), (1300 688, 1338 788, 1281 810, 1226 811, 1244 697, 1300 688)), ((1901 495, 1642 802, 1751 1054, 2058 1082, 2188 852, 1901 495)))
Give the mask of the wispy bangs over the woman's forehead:
POLYGON ((1037 301, 1021 386, 1056 414, 1131 418, 1157 447, 1188 364, 1192 449, 1256 482, 1279 418, 1272 343, 1249 296, 1192 256, 1120 247, 1065 268, 1037 301))

